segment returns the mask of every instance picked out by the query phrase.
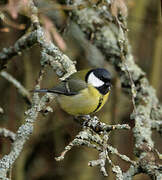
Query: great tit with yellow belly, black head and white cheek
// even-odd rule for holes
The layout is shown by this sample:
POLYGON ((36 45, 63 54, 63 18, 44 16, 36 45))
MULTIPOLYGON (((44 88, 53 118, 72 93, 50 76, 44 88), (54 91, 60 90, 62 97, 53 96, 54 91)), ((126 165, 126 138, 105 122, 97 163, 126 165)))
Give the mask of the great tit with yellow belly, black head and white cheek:
POLYGON ((99 111, 108 99, 111 75, 103 68, 78 71, 52 89, 34 92, 56 93, 61 108, 68 114, 80 116, 99 111))

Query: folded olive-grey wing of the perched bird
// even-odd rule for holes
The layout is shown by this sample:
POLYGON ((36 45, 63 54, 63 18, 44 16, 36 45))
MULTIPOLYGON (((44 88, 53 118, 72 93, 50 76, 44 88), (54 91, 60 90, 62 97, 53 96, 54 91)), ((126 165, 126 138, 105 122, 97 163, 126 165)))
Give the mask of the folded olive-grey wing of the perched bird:
POLYGON ((72 96, 79 93, 79 91, 87 87, 86 82, 80 79, 68 79, 60 82, 52 89, 48 89, 48 92, 57 94, 64 94, 66 96, 72 96))

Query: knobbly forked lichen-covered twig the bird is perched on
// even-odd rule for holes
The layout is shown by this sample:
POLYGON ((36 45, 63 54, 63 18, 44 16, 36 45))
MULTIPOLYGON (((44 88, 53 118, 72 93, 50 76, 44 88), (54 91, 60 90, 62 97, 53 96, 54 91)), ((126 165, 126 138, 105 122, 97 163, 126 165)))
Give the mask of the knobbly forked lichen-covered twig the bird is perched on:
POLYGON ((86 146, 89 148, 96 149, 99 151, 99 157, 97 160, 92 160, 88 163, 89 166, 99 166, 100 171, 103 176, 108 176, 106 171, 106 162, 108 162, 112 166, 112 170, 116 174, 117 179, 122 180, 122 171, 119 166, 115 166, 109 157, 110 154, 115 154, 119 156, 121 159, 131 163, 136 164, 134 161, 130 160, 126 155, 122 155, 118 152, 117 149, 108 145, 109 134, 111 131, 115 129, 130 129, 128 125, 106 125, 99 121, 99 119, 95 117, 85 117, 83 122, 83 130, 79 132, 79 134, 74 138, 72 142, 70 142, 61 153, 59 157, 55 159, 57 161, 61 161, 64 159, 66 153, 72 149, 74 146, 86 146), (87 118, 87 120, 86 120, 87 118))

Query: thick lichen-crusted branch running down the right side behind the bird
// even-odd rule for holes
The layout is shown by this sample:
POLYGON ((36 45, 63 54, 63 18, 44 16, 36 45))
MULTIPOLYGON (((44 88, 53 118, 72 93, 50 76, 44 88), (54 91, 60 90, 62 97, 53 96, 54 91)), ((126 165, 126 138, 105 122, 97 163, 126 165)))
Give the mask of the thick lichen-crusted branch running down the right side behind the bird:
MULTIPOLYGON (((101 50, 107 61, 111 62, 119 72, 123 89, 135 94, 132 99, 132 101, 135 100, 133 102, 135 111, 131 114, 131 119, 135 120, 133 130, 135 152, 140 163, 134 168, 137 170, 134 172, 142 171, 152 179, 162 178, 162 173, 157 170, 158 164, 153 160, 154 158, 148 158, 154 149, 151 138, 152 127, 156 129, 160 127, 160 124, 154 121, 161 121, 162 106, 159 105, 155 90, 149 85, 145 73, 134 62, 127 39, 125 18, 122 14, 120 19, 113 16, 109 4, 106 3, 93 3, 91 6, 84 0, 67 1, 67 3, 74 7, 84 6, 82 9, 74 8, 70 14, 71 19, 80 26, 87 38, 91 38, 91 42, 101 50), (136 85, 133 88, 131 81, 136 85)), ((134 175, 127 174, 127 177, 133 178, 134 175)))

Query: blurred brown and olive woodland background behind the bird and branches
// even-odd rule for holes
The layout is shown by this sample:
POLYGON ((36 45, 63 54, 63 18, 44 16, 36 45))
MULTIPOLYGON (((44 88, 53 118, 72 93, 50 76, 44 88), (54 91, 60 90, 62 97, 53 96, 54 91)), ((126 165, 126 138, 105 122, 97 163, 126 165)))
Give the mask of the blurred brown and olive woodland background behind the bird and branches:
MULTIPOLYGON (((3 1, 5 2, 5 1, 3 1)), ((8 8, 3 5, 0 11, 5 14, 5 19, 0 20, 0 49, 8 47, 19 39, 30 25, 28 17, 24 16, 25 7, 14 7, 18 1, 8 1, 8 8), (9 8, 10 7, 10 8, 9 8), (14 9, 14 12, 13 12, 14 9)), ((23 1, 25 3, 25 1, 23 1)), ((58 1, 59 2, 59 1, 58 1)), ((97 113, 103 122, 110 124, 128 123, 133 127, 129 114, 132 112, 130 98, 127 97, 120 87, 120 80, 110 64, 104 62, 102 54, 88 42, 79 27, 68 21, 68 7, 56 1, 37 1, 39 16, 46 36, 54 41, 59 48, 73 60, 77 61, 77 69, 85 69, 91 66, 105 66, 113 74, 113 89, 108 103, 97 113), (64 11, 65 10, 65 11, 64 11)), ((160 1, 159 1, 160 2, 160 1)), ((162 31, 161 21, 158 14, 158 3, 152 0, 129 1, 128 3, 128 29, 132 44, 132 51, 136 63, 146 71, 152 85, 156 88, 159 99, 162 100, 160 79, 162 67, 162 31), (159 49, 159 50, 157 50, 159 49)), ((37 46, 25 51, 21 56, 16 56, 7 66, 7 72, 20 81, 28 90, 33 89, 35 80, 40 70, 40 49, 37 46)), ((58 82, 55 73, 48 69, 42 87, 52 87, 58 82)), ((0 114, 0 126, 16 132, 24 120, 24 111, 28 105, 19 95, 15 87, 0 77, 0 107, 4 114, 0 114)), ((34 134, 25 145, 23 152, 14 166, 12 179, 15 180, 89 180, 103 179, 98 168, 88 167, 88 161, 95 159, 96 152, 83 147, 70 151, 64 161, 56 162, 58 156, 73 137, 77 134, 80 126, 67 115, 57 103, 51 104, 54 112, 42 116, 35 124, 34 134)), ((158 134, 154 134, 155 147, 162 151, 162 143, 158 134), (161 144, 160 144, 161 143, 161 144)), ((110 138, 120 153, 133 157, 133 137, 131 131, 113 132, 110 138)), ((10 142, 0 139, 0 157, 9 152, 10 142)), ((129 168, 129 164, 112 157, 116 164, 123 170, 129 168)), ((107 166, 109 169, 109 166, 107 166)), ((111 174, 107 179, 112 180, 111 174)), ((105 179, 105 178, 104 178, 105 179)), ((138 175, 134 180, 148 180, 145 175, 138 175)))

